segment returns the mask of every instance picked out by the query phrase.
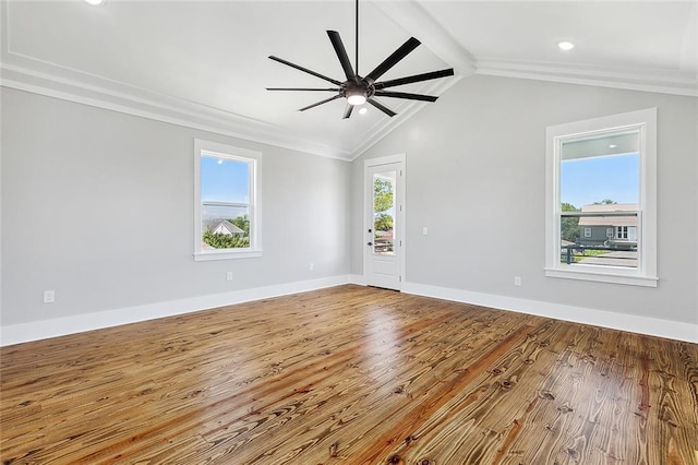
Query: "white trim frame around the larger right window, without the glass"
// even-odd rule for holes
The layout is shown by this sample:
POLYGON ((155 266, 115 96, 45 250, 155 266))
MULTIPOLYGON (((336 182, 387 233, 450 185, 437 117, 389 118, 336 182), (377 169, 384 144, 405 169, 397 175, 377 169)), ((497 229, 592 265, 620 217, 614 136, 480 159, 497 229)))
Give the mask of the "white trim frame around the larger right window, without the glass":
POLYGON ((545 276, 657 287, 657 108, 593 118, 545 130, 545 276), (609 130, 639 130, 638 266, 594 266, 559 261, 559 151, 563 140, 609 130))

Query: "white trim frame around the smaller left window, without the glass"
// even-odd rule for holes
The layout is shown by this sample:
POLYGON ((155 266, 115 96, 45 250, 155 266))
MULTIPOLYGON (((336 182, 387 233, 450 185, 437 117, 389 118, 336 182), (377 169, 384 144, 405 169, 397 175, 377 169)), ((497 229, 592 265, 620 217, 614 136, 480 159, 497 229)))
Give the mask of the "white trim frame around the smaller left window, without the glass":
POLYGON ((262 257, 261 168, 262 153, 217 142, 194 139, 194 261, 251 259, 262 257), (250 248, 206 250, 201 248, 201 157, 202 152, 233 160, 251 160, 250 174, 250 248))

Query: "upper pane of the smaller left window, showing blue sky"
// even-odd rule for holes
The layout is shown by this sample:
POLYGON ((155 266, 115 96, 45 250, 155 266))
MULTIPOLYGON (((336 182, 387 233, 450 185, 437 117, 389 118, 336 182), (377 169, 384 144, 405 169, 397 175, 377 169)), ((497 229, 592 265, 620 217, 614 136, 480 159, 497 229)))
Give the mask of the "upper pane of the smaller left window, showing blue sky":
POLYGON ((201 157, 202 202, 250 203, 250 162, 201 157))

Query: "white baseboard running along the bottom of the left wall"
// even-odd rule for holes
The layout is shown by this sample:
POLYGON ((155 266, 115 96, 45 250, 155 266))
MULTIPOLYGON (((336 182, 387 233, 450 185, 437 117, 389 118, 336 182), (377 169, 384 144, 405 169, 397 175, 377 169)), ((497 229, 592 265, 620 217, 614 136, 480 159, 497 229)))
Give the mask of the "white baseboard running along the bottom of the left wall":
POLYGON ((214 294, 209 296, 192 297, 189 299, 148 303, 145 306, 127 307, 96 313, 84 313, 51 320, 34 321, 31 323, 12 324, 0 327, 0 347, 82 333, 84 331, 118 326, 121 324, 136 323, 139 321, 172 317, 216 307, 249 302, 252 300, 305 293, 309 290, 339 286, 341 284, 349 283, 352 283, 349 275, 332 276, 320 279, 299 281, 294 283, 277 284, 274 286, 214 294))

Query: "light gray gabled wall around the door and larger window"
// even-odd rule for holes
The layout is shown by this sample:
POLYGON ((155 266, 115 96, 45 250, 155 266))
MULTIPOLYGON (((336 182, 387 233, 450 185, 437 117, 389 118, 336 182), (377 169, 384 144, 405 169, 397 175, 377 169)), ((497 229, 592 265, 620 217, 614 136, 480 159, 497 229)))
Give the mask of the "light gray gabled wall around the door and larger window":
POLYGON ((697 323, 697 105, 663 94, 465 79, 354 160, 352 272, 363 273, 363 160, 406 153, 408 283, 697 323), (659 287, 546 278, 545 127, 649 107, 659 119, 659 287))

